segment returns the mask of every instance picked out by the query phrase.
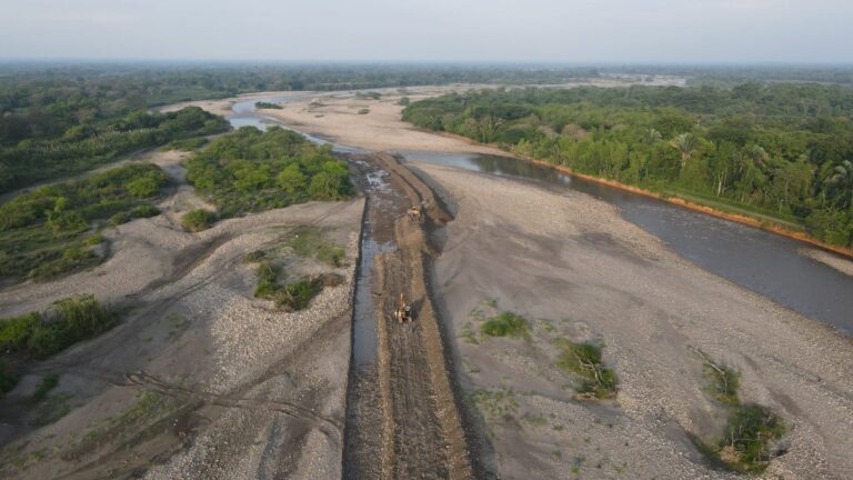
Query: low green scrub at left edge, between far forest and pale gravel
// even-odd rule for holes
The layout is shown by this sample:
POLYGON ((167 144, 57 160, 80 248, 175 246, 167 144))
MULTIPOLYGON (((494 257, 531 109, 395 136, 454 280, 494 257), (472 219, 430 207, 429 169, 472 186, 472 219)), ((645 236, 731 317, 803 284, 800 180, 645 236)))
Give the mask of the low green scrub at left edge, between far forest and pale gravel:
POLYGON ((157 214, 167 184, 159 167, 130 163, 17 196, 0 206, 0 278, 47 280, 99 263, 97 228, 157 214))

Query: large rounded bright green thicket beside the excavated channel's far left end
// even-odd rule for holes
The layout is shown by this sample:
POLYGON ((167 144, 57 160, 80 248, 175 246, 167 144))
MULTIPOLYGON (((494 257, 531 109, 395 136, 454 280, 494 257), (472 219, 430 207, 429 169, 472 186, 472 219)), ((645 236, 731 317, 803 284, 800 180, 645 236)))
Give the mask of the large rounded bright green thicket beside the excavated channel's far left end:
POLYGON ((187 180, 221 217, 352 194, 347 163, 301 134, 253 127, 214 140, 187 162, 187 180))

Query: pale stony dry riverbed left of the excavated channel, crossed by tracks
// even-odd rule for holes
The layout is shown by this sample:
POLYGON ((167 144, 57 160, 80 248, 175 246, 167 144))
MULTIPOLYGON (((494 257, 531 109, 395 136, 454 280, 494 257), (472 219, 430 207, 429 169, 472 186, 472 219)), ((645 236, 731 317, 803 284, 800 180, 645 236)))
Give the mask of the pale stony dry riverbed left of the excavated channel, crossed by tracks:
POLYGON ((32 364, 2 399, 0 477, 340 478, 364 200, 298 204, 190 233, 179 218, 204 202, 182 184, 181 157, 151 159, 174 183, 163 213, 108 229, 107 262, 0 291, 0 317, 83 292, 124 311, 109 332, 32 364), (284 247, 294 229, 340 246, 343 263, 284 247), (289 276, 341 282, 284 312, 253 297, 257 263, 244 257, 259 249, 289 276), (33 406, 48 373, 59 383, 33 406))

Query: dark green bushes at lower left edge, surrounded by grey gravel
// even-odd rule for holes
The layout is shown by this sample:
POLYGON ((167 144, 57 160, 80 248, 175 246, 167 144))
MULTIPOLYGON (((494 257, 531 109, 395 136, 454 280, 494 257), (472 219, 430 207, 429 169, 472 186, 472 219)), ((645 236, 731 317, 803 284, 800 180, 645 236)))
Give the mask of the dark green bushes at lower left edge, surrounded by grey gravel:
MULTIPOLYGON (((12 364, 46 359, 103 333, 117 321, 116 310, 101 304, 91 294, 58 300, 47 312, 0 319, 0 393, 11 390, 18 381, 12 364)), ((39 397, 44 388, 37 389, 36 396, 39 397)))

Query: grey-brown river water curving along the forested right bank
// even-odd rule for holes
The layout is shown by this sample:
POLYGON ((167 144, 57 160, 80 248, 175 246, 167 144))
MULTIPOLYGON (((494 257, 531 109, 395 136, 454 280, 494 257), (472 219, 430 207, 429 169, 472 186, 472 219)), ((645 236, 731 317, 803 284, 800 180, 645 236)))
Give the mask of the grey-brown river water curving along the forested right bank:
POLYGON ((804 244, 651 199, 495 156, 401 152, 410 160, 535 180, 582 191, 616 206, 622 216, 703 269, 805 317, 853 334, 853 277, 799 253, 804 244))

